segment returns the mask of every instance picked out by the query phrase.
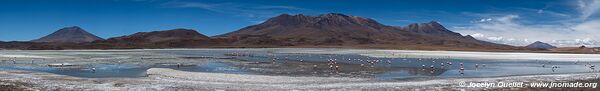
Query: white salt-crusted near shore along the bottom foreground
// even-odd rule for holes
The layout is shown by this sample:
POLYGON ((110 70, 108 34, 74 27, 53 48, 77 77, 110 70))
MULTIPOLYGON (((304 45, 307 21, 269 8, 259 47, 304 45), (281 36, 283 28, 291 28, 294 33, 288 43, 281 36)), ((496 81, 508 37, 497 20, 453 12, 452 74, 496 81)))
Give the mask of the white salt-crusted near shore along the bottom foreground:
MULTIPOLYGON (((598 82, 600 73, 527 75, 487 78, 446 78, 423 81, 377 81, 336 77, 287 77, 186 72, 172 69, 149 69, 143 78, 79 78, 43 72, 0 71, 0 86, 10 90, 557 90, 545 88, 464 88, 458 82, 598 82), (168 72, 163 72, 168 71, 168 72), (203 77, 195 77, 202 75, 203 77), (245 80, 226 79, 244 76, 245 80), (213 78, 221 78, 213 79, 213 78), (260 79, 257 79, 260 78, 260 79), (269 82, 262 78, 292 79, 292 82, 269 82), (314 80, 319 78, 321 80, 314 80), (312 79, 304 81, 306 79, 312 79), (323 80, 324 79, 324 80, 323 80), (8 85, 7 85, 8 83, 8 85), (78 84, 78 85, 74 85, 78 84)), ((589 90, 588 88, 581 88, 589 90)), ((596 88, 597 89, 597 88, 596 88)), ((0 89, 2 90, 2 89, 0 89)), ((560 90, 560 89, 558 89, 560 90)), ((570 89, 569 89, 570 90, 570 89)))

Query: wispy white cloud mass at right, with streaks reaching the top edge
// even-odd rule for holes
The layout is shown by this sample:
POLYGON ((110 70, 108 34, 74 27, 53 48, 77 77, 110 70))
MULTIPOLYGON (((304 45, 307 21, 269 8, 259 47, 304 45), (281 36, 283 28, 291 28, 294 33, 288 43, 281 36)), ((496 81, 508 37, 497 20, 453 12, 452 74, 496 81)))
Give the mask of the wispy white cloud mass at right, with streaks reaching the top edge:
POLYGON ((473 19, 470 26, 452 29, 480 40, 517 46, 535 41, 557 46, 600 46, 600 35, 597 35, 600 33, 600 19, 593 17, 599 11, 600 1, 573 2, 576 5, 572 9, 578 11, 572 14, 547 10, 552 8, 551 5, 541 9, 517 8, 511 13, 466 12, 463 14, 479 18, 473 19), (551 20, 540 22, 539 19, 532 19, 540 17, 551 17, 551 20))

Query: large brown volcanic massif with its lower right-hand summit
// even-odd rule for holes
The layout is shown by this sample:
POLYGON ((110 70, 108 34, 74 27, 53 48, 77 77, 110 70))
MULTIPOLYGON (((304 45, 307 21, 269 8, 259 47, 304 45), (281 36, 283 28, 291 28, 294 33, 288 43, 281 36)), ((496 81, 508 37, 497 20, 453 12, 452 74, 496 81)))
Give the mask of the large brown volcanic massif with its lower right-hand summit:
POLYGON ((515 48, 462 36, 433 21, 397 27, 338 13, 319 16, 282 14, 217 37, 234 38, 237 40, 234 45, 515 48))

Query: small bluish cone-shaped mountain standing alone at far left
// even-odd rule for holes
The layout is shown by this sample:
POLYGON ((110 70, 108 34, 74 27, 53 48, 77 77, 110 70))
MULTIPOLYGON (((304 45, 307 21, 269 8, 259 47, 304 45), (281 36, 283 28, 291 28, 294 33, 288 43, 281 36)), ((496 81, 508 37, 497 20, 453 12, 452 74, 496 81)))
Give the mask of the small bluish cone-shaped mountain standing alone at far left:
POLYGON ((83 43, 103 40, 102 38, 93 35, 77 26, 62 28, 50 35, 40 39, 32 40, 32 42, 51 42, 51 43, 83 43))

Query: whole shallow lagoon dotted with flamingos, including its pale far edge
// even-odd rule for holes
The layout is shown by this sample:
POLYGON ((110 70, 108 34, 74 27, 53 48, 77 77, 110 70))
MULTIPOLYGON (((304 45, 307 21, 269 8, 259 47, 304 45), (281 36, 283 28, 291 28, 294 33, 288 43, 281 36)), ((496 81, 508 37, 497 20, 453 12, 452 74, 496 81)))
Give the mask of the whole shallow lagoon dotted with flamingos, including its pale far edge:
POLYGON ((0 71, 26 70, 85 78, 145 77, 149 68, 172 68, 228 74, 406 80, 599 72, 590 65, 600 65, 600 56, 595 54, 335 48, 3 50, 0 55, 0 71), (339 68, 330 68, 328 60, 335 60, 334 66, 339 68), (464 65, 463 74, 460 63, 464 65))

